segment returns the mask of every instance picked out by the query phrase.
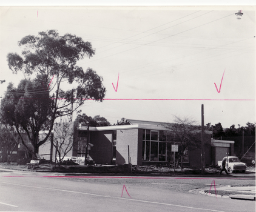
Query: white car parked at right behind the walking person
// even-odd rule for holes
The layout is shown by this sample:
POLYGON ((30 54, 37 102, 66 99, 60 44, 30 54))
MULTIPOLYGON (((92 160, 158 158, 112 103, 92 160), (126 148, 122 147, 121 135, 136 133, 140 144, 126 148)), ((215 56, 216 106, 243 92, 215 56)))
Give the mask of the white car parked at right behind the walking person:
MULTIPOLYGON (((228 158, 228 161, 226 161, 226 170, 229 171, 229 173, 232 173, 233 171, 242 171, 243 173, 245 172, 247 166, 246 164, 242 163, 238 157, 229 156, 224 158, 228 158)), ((218 165, 221 168, 221 161, 218 161, 218 165)))

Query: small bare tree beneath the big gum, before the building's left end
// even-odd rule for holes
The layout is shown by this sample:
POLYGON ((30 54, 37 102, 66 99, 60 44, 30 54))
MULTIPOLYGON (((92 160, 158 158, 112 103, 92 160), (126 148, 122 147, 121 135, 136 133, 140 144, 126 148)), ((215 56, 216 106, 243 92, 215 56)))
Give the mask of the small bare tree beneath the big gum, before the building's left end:
POLYGON ((56 123, 53 136, 53 146, 56 150, 56 161, 61 164, 64 157, 73 150, 73 147, 78 143, 76 122, 56 123))

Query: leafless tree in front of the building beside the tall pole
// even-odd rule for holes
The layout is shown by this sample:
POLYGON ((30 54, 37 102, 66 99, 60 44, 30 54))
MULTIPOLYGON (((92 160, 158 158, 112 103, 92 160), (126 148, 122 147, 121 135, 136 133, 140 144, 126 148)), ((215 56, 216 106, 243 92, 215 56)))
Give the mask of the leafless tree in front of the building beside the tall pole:
POLYGON ((166 128, 170 130, 172 142, 175 142, 179 147, 177 166, 180 161, 181 169, 183 169, 184 151, 188 148, 191 150, 200 147, 201 145, 200 126, 198 126, 197 122, 192 118, 174 116, 174 123, 168 124, 166 128))

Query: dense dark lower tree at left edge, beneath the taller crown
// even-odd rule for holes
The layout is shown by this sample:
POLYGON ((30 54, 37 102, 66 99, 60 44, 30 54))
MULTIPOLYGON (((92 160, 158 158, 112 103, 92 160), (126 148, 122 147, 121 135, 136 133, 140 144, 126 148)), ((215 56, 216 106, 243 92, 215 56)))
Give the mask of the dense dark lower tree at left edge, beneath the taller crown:
MULTIPOLYGON (((27 147, 20 134, 21 130, 25 131, 35 153, 38 152, 38 147, 43 143, 42 141, 38 142, 39 131, 50 120, 53 105, 49 92, 41 93, 39 98, 33 96, 35 91, 42 90, 40 82, 42 79, 38 76, 33 81, 30 79, 21 80, 17 88, 13 84, 9 84, 1 101, 2 121, 16 128, 22 144, 27 147)), ((29 150, 28 147, 27 149, 29 150)))

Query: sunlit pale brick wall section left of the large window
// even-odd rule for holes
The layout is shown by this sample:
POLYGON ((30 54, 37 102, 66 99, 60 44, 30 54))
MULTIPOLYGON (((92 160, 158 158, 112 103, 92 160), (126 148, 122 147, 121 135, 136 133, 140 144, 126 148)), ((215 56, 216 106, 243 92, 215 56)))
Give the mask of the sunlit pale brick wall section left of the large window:
POLYGON ((132 164, 138 164, 138 129, 116 131, 116 164, 128 164, 128 145, 132 164))

